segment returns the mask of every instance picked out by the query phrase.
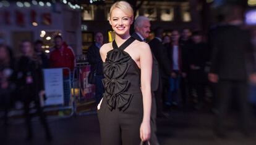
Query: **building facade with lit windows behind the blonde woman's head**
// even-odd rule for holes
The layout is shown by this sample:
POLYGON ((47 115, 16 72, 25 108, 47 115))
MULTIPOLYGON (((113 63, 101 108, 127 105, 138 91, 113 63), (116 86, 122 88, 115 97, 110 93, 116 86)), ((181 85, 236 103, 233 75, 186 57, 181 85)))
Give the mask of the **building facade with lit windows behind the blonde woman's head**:
MULTIPOLYGON (((87 52, 88 46, 93 42, 93 34, 103 33, 105 42, 112 40, 113 34, 109 25, 109 9, 115 1, 106 0, 100 4, 82 4, 82 45, 83 53, 87 52)), ((129 1, 130 2, 130 1, 129 1)), ((142 1, 137 1, 139 5, 142 1)), ((193 25, 188 0, 172 1, 143 1, 136 16, 144 15, 151 20, 151 29, 160 26, 165 33, 172 29, 191 28, 193 25)))

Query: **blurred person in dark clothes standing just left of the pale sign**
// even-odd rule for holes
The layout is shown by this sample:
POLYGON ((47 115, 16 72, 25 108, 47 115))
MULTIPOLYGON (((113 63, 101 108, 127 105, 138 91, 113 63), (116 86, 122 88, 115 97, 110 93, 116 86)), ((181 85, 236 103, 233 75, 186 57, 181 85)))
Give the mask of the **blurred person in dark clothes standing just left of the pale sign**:
POLYGON ((20 100, 23 102, 24 114, 27 123, 28 136, 27 139, 33 139, 32 131, 32 114, 30 114, 30 103, 35 104, 36 114, 40 116, 40 121, 45 128, 46 139, 52 139, 45 114, 40 106, 40 96, 44 94, 43 74, 41 69, 41 59, 34 52, 30 41, 23 41, 20 45, 21 55, 17 61, 17 92, 19 92, 20 100))

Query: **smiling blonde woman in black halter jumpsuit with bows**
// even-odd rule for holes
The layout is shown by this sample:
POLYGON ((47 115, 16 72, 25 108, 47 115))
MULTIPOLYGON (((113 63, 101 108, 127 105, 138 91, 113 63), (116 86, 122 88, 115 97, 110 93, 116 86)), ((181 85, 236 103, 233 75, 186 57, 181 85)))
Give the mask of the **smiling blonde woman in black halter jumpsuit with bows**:
POLYGON ((105 93, 98 104, 101 144, 137 145, 150 139, 152 55, 145 42, 130 36, 134 12, 119 1, 109 11, 116 37, 100 49, 105 93))

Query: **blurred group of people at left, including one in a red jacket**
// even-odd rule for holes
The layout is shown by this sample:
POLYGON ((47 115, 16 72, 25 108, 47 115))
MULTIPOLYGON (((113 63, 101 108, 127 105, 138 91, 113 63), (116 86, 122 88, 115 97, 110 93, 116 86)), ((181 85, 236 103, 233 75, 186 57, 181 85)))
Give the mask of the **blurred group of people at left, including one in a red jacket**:
MULTIPOLYGON (((62 41, 61 36, 54 37, 55 46, 46 55, 42 50, 43 41, 34 43, 22 41, 19 53, 14 56, 12 49, 4 44, 0 45, 0 83, 1 109, 4 110, 4 127, 8 125, 8 112, 15 107, 15 102, 23 103, 24 117, 27 124, 27 139, 33 138, 30 109, 36 109, 40 121, 45 128, 46 139, 51 140, 51 131, 41 108, 40 98, 45 100, 43 69, 69 68, 74 69, 75 55, 72 49, 62 41)), ((69 72, 64 71, 64 77, 69 72)))

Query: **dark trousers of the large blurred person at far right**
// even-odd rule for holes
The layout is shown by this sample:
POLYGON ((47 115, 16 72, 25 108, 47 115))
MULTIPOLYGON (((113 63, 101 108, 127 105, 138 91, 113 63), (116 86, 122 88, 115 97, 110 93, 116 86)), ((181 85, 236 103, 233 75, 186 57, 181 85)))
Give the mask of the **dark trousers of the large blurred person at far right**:
POLYGON ((236 100, 239 105, 239 127, 242 131, 249 129, 249 108, 247 103, 247 82, 246 81, 231 81, 220 80, 217 87, 218 97, 218 113, 216 114, 215 129, 216 131, 224 131, 224 117, 228 111, 229 103, 234 99, 233 92, 236 92, 236 100))

